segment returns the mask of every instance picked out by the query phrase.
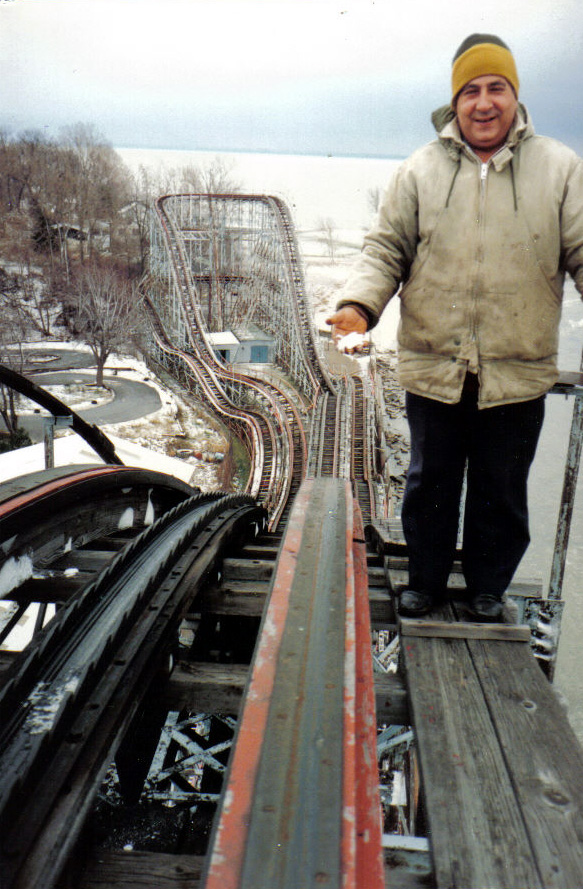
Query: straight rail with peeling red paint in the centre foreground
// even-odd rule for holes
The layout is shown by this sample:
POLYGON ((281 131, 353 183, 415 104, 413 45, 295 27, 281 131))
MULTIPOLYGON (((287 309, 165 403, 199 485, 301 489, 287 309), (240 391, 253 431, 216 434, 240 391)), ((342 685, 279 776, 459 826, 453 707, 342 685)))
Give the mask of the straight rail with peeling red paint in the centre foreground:
POLYGON ((273 579, 205 889, 384 886, 367 593, 349 482, 305 481, 273 579))

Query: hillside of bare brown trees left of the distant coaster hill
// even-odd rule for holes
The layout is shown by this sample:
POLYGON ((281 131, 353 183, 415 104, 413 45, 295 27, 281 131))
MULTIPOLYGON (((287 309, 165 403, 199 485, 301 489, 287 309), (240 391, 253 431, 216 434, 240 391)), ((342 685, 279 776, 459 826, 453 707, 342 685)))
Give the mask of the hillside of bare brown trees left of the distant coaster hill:
MULTIPOLYGON (((0 363, 22 370, 22 346, 54 336, 91 348, 101 385, 111 352, 144 329, 150 209, 160 194, 233 192, 220 161, 154 174, 130 171, 90 124, 57 139, 0 131, 0 363)), ((0 391, 0 416, 20 441, 16 405, 0 391)))

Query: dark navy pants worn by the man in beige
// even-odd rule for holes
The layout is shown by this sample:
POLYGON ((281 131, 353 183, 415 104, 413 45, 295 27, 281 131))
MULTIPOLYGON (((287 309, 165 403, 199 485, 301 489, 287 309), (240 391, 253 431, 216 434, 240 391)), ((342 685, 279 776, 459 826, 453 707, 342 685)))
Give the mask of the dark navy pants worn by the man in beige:
POLYGON ((544 402, 543 396, 478 410, 471 383, 453 405, 407 393, 411 463, 402 521, 411 589, 445 593, 467 465, 462 565, 468 592, 504 593, 530 541, 527 479, 544 402))

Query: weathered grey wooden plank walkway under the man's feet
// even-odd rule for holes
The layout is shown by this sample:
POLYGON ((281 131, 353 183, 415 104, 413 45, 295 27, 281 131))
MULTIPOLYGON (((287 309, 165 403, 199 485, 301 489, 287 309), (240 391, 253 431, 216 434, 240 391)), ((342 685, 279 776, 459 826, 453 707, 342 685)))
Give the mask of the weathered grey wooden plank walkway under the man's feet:
POLYGON ((464 617, 399 622, 435 886, 583 887, 583 749, 528 628, 464 617))

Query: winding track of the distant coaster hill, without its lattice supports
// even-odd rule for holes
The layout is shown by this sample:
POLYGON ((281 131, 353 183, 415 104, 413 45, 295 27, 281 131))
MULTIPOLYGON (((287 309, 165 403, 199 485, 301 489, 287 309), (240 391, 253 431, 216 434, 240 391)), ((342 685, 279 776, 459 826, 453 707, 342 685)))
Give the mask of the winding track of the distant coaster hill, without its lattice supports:
MULTIPOLYGON (((354 459, 349 454, 344 454, 344 460, 340 458, 340 449, 346 447, 346 443, 352 440, 354 426, 348 419, 348 414, 357 416, 360 412, 359 432, 366 437, 366 443, 363 446, 362 453, 357 460, 357 474, 360 477, 356 484, 358 485, 356 493, 364 497, 364 513, 367 521, 370 520, 375 508, 374 488, 373 488, 373 448, 370 447, 370 431, 368 426, 371 418, 365 417, 363 411, 364 399, 358 399, 360 407, 352 412, 350 405, 357 400, 357 390, 355 384, 348 385, 342 381, 336 381, 332 384, 330 376, 324 370, 319 357, 318 349, 315 344, 315 335, 313 323, 306 299, 306 289, 303 274, 301 271, 301 263, 297 254, 296 239, 293 232, 293 225, 289 216, 289 211, 285 204, 272 197, 258 197, 250 195, 210 195, 205 196, 209 202, 218 201, 241 201, 251 202, 260 201, 265 203, 272 210, 277 223, 277 229, 284 245, 283 255, 285 257, 285 268, 289 279, 292 282, 292 292, 294 298, 291 300, 295 310, 295 321, 300 331, 300 341, 303 344, 303 361, 305 367, 311 374, 311 384, 314 393, 314 410, 312 422, 310 423, 310 465, 306 466, 306 433, 304 426, 306 420, 300 416, 293 401, 287 397, 281 388, 275 387, 273 384, 269 386, 263 380, 251 378, 234 370, 232 366, 225 367, 220 361, 213 348, 211 347, 206 330, 204 320, 201 314, 200 298, 197 297, 195 283, 190 272, 190 266, 186 258, 183 235, 181 233, 179 222, 177 221, 178 212, 173 210, 176 202, 181 199, 196 196, 166 196, 160 198, 156 202, 156 212, 160 220, 160 225, 166 240, 168 255, 170 257, 173 278, 178 293, 180 294, 180 304, 185 320, 186 335, 190 341, 191 353, 185 353, 183 350, 176 348, 175 344, 171 344, 168 333, 162 326, 159 313, 154 309, 152 302, 149 304, 156 313, 156 330, 158 343, 162 347, 164 354, 168 355, 170 351, 173 355, 181 355, 191 369, 196 368, 197 378, 200 385, 208 398, 209 402, 219 409, 221 413, 229 418, 233 417, 233 412, 237 407, 242 408, 244 413, 249 415, 249 393, 253 392, 252 402, 254 407, 261 413, 255 414, 256 422, 262 425, 262 438, 264 441, 271 441, 267 455, 261 452, 260 448, 248 447, 250 459, 253 464, 252 477, 261 477, 259 488, 248 489, 251 493, 257 494, 260 490, 262 502, 273 516, 271 527, 277 527, 281 515, 285 510, 285 504, 290 502, 290 494, 297 491, 299 482, 306 475, 332 475, 337 477, 350 477, 351 471, 354 471, 354 459), (163 344, 163 345, 162 345, 163 344), (192 357, 188 357, 191 355, 192 357), (338 390, 342 391, 342 395, 338 394, 338 390), (283 406, 284 417, 281 417, 281 406, 283 406), (325 418, 321 417, 321 412, 325 411, 325 418), (277 421, 277 429, 273 429, 274 421, 277 421), (270 427, 269 429, 266 429, 270 427), (285 429, 285 434, 282 434, 285 429), (277 448, 274 442, 276 440, 285 440, 288 445, 290 437, 293 440, 291 447, 287 448, 284 454, 277 454, 277 448), (271 467, 269 460, 272 460, 271 467), (348 461, 348 464, 347 464, 348 461), (286 463, 289 465, 286 466, 286 463), (263 464, 263 465, 261 465, 263 464), (278 464, 275 466, 275 464, 278 464), (285 467, 284 471, 282 468, 285 467), (274 478, 279 479, 279 484, 274 486, 274 478), (270 502, 264 498, 266 492, 269 492, 270 502), (373 498, 371 501, 371 497, 373 498), (273 503, 277 504, 275 509, 272 508, 273 503)), ((362 391, 362 386, 360 390, 362 391)), ((372 418, 374 422, 374 417, 372 418)), ((243 423, 246 421, 243 419, 243 423)), ((248 441, 247 437, 246 440, 248 441)), ((255 438, 255 444, 257 438, 255 438)), ((251 442, 251 445, 253 442, 251 442)), ((356 445, 358 447, 358 445, 356 445)))

